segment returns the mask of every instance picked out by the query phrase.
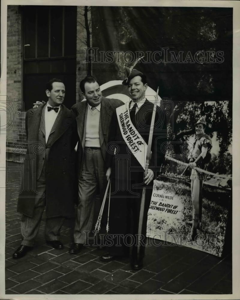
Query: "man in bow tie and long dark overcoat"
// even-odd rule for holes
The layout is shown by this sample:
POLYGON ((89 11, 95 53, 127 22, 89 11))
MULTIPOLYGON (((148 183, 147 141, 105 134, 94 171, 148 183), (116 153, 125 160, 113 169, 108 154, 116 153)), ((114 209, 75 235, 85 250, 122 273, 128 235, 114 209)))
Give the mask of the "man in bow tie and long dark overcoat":
POLYGON ((35 158, 35 163, 23 176, 32 178, 30 184, 34 191, 19 195, 17 211, 22 213, 22 243, 13 254, 15 259, 34 246, 45 207, 46 241, 56 249, 63 248, 59 235, 64 219, 74 216, 77 196, 75 116, 62 104, 65 86, 60 79, 47 83, 46 95, 47 103, 26 113, 27 154, 35 158))

